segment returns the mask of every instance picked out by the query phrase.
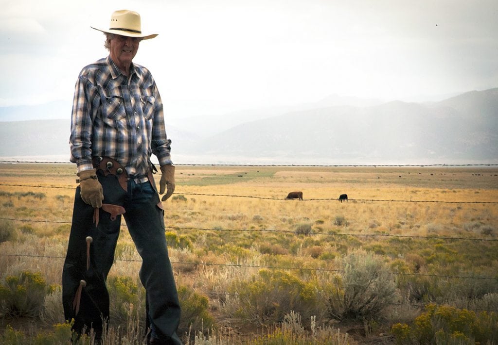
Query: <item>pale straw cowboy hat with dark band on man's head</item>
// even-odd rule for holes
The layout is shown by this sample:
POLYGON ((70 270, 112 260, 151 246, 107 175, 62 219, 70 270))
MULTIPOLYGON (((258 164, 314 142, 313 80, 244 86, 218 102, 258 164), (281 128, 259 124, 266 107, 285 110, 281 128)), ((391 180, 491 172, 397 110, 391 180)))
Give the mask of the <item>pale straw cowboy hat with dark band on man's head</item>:
POLYGON ((127 37, 139 37, 144 40, 157 36, 156 33, 150 35, 142 34, 142 30, 140 28, 140 14, 127 9, 120 9, 113 12, 113 14, 111 15, 109 30, 98 29, 93 26, 90 27, 102 32, 114 33, 116 35, 127 37))

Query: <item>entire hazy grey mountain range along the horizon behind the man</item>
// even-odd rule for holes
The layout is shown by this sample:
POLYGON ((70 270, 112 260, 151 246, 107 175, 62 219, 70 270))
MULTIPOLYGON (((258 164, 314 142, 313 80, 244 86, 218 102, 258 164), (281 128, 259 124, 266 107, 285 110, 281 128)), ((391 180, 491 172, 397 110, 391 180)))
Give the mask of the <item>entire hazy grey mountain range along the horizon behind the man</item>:
MULTIPOLYGON (((52 106, 57 114, 60 103, 52 106)), ((50 104, 0 108, 0 157, 69 158, 69 119, 5 121, 22 112, 36 118, 40 107, 50 104)), ((498 88, 431 102, 331 96, 293 107, 166 119, 166 129, 177 164, 493 164, 498 88)))

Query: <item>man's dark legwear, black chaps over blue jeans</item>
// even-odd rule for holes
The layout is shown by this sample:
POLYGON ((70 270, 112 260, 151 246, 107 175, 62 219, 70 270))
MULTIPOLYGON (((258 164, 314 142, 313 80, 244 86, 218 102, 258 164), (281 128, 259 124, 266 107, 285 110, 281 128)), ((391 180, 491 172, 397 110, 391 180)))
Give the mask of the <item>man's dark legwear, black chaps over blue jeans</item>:
POLYGON ((181 344, 176 334, 180 322, 180 303, 173 269, 164 236, 164 211, 157 191, 150 182, 128 180, 127 191, 116 176, 97 173, 104 190, 103 204, 123 207, 113 217, 99 209, 99 222, 93 222, 94 208, 83 202, 76 188, 73 221, 62 272, 62 300, 66 320, 74 319, 73 329, 82 333, 92 327, 102 336, 103 320, 109 319, 109 293, 106 280, 114 261, 114 252, 124 217, 129 234, 142 258, 140 281, 145 287, 146 324, 151 335, 164 344, 181 344), (90 244, 87 268, 87 236, 90 244), (85 280, 86 286, 80 287, 85 280), (79 303, 76 303, 79 298, 79 303), (78 308, 75 308, 78 305, 78 308), (78 313, 76 313, 78 309, 78 313))

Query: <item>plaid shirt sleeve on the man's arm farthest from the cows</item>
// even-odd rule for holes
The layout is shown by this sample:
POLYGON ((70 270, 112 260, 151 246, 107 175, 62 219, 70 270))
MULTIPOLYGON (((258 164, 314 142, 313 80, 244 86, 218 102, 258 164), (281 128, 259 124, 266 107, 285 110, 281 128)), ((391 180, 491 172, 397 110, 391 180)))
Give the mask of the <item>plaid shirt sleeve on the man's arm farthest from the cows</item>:
POLYGON ((76 163, 78 173, 93 169, 92 122, 100 102, 97 88, 83 75, 76 82, 71 115, 70 161, 76 163))

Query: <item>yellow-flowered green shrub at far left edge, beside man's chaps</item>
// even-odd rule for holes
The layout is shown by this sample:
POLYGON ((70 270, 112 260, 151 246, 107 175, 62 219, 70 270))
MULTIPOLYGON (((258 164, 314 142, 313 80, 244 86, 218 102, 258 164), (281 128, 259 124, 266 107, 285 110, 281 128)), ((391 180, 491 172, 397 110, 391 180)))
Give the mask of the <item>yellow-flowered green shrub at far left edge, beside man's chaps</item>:
POLYGON ((12 317, 37 317, 50 290, 39 272, 25 271, 18 276, 7 276, 0 286, 1 313, 12 317))

